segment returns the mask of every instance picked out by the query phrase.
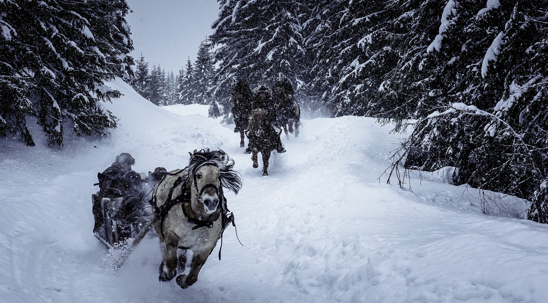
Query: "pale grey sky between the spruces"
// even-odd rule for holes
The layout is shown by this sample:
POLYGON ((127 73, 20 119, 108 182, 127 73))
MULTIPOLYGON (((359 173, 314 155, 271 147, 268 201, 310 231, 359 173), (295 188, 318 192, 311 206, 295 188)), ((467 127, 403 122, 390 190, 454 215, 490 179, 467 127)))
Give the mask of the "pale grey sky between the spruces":
POLYGON ((133 10, 126 16, 132 27, 135 61, 142 55, 149 67, 155 63, 178 74, 187 57, 194 62, 200 42, 213 33, 216 0, 127 0, 133 10))

